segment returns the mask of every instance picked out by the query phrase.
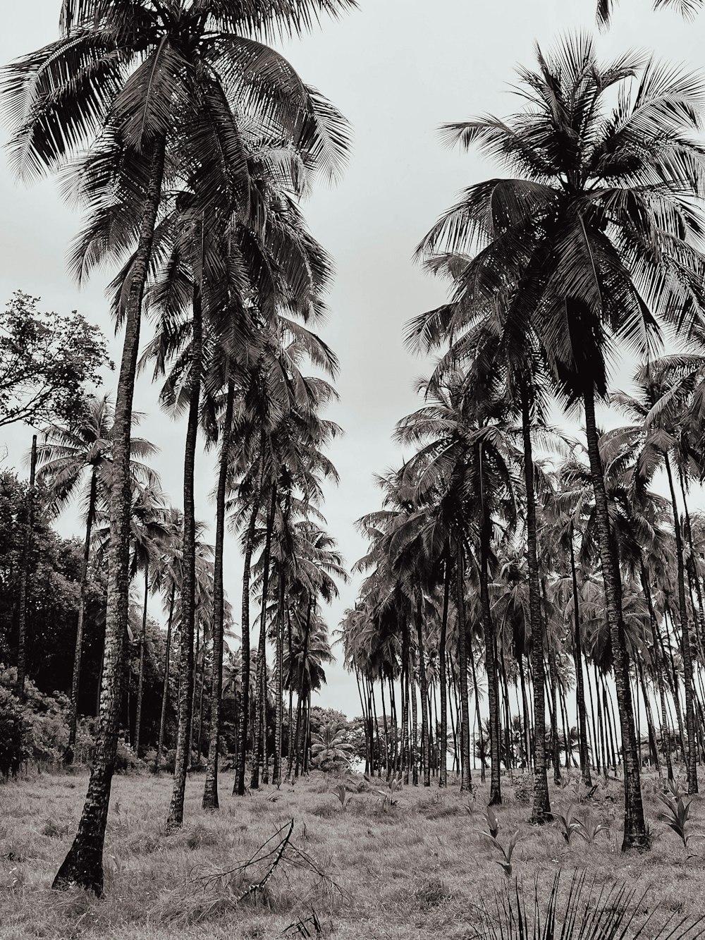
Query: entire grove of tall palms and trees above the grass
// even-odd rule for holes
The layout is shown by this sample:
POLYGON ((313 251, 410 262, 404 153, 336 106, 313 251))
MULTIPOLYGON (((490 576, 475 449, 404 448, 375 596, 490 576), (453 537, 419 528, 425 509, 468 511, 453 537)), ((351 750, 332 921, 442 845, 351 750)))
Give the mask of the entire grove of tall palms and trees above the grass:
POLYGON ((352 128, 275 46, 358 6, 63 0, 55 42, 2 73, 13 172, 59 174, 82 208, 69 268, 110 268, 122 337, 107 392, 79 314, 18 291, 0 318, 0 428, 31 429, 28 478, 0 471, 0 772, 90 767, 56 888, 102 894, 130 767, 173 775, 167 832, 192 771, 213 811, 219 771, 235 803, 312 768, 364 767, 385 801, 487 781, 491 807, 525 779, 540 825, 574 768, 587 792, 623 783, 625 852, 653 839, 645 769, 698 791, 705 80, 575 33, 518 70, 509 117, 443 125, 500 175, 414 233, 447 299, 408 312, 428 374, 351 572, 324 517, 334 261, 302 205, 344 173, 352 128), (140 370, 182 418, 178 505, 140 436, 140 370), (313 697, 336 657, 353 721, 313 697))

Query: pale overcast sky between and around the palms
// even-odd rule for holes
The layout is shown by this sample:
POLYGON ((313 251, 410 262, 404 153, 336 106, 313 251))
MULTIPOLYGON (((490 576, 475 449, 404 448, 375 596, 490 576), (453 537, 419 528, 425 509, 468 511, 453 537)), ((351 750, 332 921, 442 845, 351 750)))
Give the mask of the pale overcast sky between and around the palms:
MULTIPOLYGON (((58 0, 3 6, 0 63, 57 36, 58 0)), ((512 113, 516 65, 533 64, 536 42, 548 48, 561 33, 579 28, 597 36, 605 58, 636 48, 689 70, 705 66, 705 11, 688 23, 675 9, 652 11, 650 0, 622 0, 607 34, 595 28, 594 0, 359 0, 356 12, 323 20, 312 35, 281 47, 302 78, 337 104, 354 132, 344 180, 335 188, 320 186, 305 205, 311 231, 336 261, 331 314, 320 332, 340 359, 340 400, 329 416, 345 434, 330 448, 340 484, 328 489, 323 511, 350 565, 366 550, 354 522, 380 504, 374 475, 401 461, 391 432, 418 404, 413 384, 424 364, 404 350, 403 324, 446 299, 442 284, 413 263, 415 245, 463 187, 497 175, 477 154, 443 149, 437 128, 444 121, 512 113)), ((0 136, 7 139, 7 125, 0 136)), ((71 280, 65 256, 80 219, 62 202, 55 181, 27 188, 12 178, 0 154, 0 206, 0 303, 19 289, 40 297, 42 308, 62 314, 78 309, 110 337, 118 359, 121 337, 113 336, 104 296, 110 273, 96 272, 81 289, 71 280)), ((116 382, 116 374, 107 376, 108 387, 116 382)), ((154 465, 164 492, 180 506, 185 429, 159 411, 156 397, 157 389, 143 378, 135 407, 147 416, 139 434, 160 447, 154 465)), ((30 435, 22 427, 0 429, 6 466, 25 472, 30 435)), ((201 453, 196 516, 209 525, 213 485, 214 456, 201 453)), ((71 511, 58 528, 80 534, 71 511)), ((354 603, 358 583, 340 586, 339 601, 325 615, 331 631, 354 603)), ((229 540, 226 587, 236 608, 241 585, 242 562, 229 540)), ((152 606, 158 616, 158 602, 152 606)), ((359 713, 354 679, 339 662, 327 673, 319 704, 359 713)))

